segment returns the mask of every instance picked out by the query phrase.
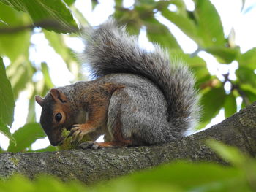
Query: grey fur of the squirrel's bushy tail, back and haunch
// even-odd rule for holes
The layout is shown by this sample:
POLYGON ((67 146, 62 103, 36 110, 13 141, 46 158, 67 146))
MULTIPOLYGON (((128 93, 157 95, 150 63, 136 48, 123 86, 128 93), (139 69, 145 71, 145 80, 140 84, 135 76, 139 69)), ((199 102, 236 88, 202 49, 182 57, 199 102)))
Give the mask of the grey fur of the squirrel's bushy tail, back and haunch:
POLYGON ((82 59, 94 75, 126 85, 111 98, 110 132, 121 120, 125 137, 153 144, 179 138, 195 126, 199 111, 195 80, 181 61, 170 62, 158 45, 154 52, 141 49, 138 39, 129 36, 125 27, 118 27, 113 19, 97 28, 87 28, 83 38, 86 49, 82 59))

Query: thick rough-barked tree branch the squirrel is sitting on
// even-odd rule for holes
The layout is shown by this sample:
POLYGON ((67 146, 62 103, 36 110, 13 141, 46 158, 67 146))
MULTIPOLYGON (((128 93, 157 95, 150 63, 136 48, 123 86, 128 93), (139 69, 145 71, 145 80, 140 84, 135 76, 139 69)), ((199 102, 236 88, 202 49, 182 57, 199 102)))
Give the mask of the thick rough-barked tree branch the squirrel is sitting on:
POLYGON ((30 178, 37 174, 52 174, 62 180, 95 183, 177 159, 225 163, 206 145, 206 139, 217 139, 255 156, 256 103, 211 128, 163 145, 1 153, 0 177, 9 177, 17 172, 30 178))

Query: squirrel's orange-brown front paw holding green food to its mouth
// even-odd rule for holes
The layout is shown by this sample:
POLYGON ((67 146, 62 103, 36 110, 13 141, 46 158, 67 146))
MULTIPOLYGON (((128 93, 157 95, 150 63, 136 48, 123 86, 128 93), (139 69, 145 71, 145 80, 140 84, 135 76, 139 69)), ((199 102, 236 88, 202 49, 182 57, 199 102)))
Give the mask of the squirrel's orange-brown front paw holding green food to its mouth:
POLYGON ((86 134, 89 134, 91 131, 94 131, 94 128, 91 128, 87 124, 75 124, 72 126, 69 137, 72 137, 72 141, 80 142, 81 139, 86 134))

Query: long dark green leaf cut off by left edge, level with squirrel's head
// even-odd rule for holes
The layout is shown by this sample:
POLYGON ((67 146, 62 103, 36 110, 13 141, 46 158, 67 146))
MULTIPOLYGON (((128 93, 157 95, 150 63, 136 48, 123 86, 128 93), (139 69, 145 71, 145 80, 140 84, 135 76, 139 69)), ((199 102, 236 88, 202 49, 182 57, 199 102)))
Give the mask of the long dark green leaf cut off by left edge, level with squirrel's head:
POLYGON ((11 126, 15 101, 13 99, 12 86, 7 78, 2 58, 0 58, 0 119, 11 126))

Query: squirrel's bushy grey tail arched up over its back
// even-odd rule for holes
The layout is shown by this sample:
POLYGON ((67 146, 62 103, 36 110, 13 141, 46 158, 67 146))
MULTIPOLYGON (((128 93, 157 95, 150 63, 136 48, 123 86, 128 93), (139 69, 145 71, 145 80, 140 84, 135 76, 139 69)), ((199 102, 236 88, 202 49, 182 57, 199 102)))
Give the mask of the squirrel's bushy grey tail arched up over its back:
POLYGON ((197 121, 197 94, 194 78, 186 66, 168 59, 159 46, 154 51, 141 49, 136 37, 125 27, 108 20, 83 34, 86 48, 83 57, 97 77, 113 73, 138 74, 154 82, 164 93, 168 104, 168 120, 185 123, 189 128, 197 121))

